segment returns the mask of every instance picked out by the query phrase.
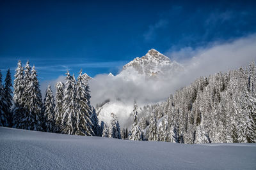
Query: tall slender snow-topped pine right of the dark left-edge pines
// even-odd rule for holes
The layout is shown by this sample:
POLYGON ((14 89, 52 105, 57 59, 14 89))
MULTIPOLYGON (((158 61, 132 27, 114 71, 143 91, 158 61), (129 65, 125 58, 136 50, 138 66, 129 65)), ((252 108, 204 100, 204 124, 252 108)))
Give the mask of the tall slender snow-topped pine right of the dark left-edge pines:
POLYGON ((19 60, 17 64, 17 69, 15 70, 15 80, 13 81, 13 127, 19 128, 20 122, 22 120, 22 117, 24 115, 24 104, 22 104, 22 96, 24 92, 24 73, 23 73, 23 67, 19 60))

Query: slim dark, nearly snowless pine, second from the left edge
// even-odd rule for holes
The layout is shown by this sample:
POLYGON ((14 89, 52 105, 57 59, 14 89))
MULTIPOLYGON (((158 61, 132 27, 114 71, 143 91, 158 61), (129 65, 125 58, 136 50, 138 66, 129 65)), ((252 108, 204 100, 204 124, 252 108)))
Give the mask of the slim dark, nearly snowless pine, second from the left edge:
POLYGON ((6 73, 6 78, 4 80, 4 98, 6 100, 6 110, 4 112, 7 115, 8 120, 8 127, 12 127, 13 122, 13 113, 12 113, 12 77, 11 77, 11 71, 8 69, 6 73))

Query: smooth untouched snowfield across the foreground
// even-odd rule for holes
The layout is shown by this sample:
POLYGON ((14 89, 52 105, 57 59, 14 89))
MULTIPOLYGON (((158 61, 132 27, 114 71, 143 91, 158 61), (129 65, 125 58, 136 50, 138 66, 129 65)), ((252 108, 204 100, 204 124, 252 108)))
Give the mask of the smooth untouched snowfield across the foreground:
POLYGON ((125 141, 0 127, 0 169, 256 169, 256 145, 125 141))

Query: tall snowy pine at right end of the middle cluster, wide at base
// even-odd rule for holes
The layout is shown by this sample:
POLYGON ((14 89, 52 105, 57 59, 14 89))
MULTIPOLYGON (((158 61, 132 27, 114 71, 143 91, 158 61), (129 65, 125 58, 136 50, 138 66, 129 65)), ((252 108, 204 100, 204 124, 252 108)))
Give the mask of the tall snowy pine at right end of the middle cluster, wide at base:
POLYGON ((84 83, 82 71, 77 78, 77 135, 95 136, 98 131, 98 119, 95 110, 90 105, 88 83, 84 83), (95 127, 95 132, 93 131, 95 127))

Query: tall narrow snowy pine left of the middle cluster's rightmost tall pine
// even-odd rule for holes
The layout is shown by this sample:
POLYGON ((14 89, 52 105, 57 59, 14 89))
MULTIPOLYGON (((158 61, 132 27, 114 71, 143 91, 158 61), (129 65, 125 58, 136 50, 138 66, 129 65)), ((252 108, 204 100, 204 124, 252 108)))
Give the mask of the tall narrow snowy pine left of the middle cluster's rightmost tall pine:
MULTIPOLYGON (((79 129, 77 127, 77 93, 76 93, 76 80, 74 76, 70 76, 67 71, 65 90, 64 90, 64 104, 63 104, 63 118, 61 122, 61 133, 64 134, 83 134, 84 129, 79 129)), ((80 122, 79 122, 80 123, 80 122)), ((85 125, 85 124, 84 124, 85 125)))

